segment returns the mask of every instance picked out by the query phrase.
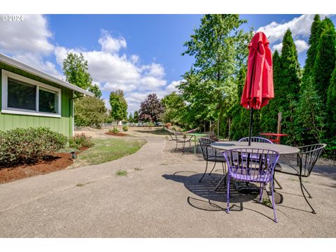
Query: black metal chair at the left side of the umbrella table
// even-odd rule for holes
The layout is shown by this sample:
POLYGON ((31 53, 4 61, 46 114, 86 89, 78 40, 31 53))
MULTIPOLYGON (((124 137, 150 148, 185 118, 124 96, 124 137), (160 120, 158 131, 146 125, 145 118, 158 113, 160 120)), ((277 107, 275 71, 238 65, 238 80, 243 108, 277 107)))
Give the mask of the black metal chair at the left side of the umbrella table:
MULTIPOLYGON (((222 167, 223 167, 223 174, 225 175, 226 174, 226 166, 224 168, 223 163, 225 162, 225 158, 223 156, 223 153, 221 153, 220 151, 217 151, 216 148, 210 146, 210 144, 214 143, 215 141, 212 140, 212 139, 209 139, 207 137, 200 137, 200 139, 198 139, 198 141, 200 142, 203 158, 204 158, 205 161, 207 161, 207 165, 205 167, 204 174, 203 174, 203 176, 202 176, 202 178, 200 179, 199 182, 201 182, 202 179, 204 178, 205 174, 207 174, 208 162, 215 162, 214 167, 211 169, 211 172, 214 171, 214 169, 216 167, 216 163, 221 162, 222 167)), ((211 175, 211 172, 209 173, 209 175, 211 175)), ((223 179, 222 179, 222 181, 223 181, 223 179)))

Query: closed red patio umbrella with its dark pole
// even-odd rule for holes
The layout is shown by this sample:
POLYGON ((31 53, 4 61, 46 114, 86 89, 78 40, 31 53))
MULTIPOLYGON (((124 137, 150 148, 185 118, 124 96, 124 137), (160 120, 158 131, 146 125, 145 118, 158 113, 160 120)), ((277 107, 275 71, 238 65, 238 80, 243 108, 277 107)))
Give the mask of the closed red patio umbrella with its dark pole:
POLYGON ((248 145, 251 145, 253 109, 261 109, 274 97, 272 52, 266 35, 259 31, 248 44, 247 74, 241 106, 251 109, 248 145))

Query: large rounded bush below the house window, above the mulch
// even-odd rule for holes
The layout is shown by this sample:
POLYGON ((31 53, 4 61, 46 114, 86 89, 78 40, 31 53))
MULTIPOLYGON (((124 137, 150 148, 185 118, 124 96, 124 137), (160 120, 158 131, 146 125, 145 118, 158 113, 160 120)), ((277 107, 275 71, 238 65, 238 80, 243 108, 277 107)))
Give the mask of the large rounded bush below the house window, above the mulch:
POLYGON ((0 132, 0 167, 43 160, 66 146, 63 134, 49 128, 16 128, 0 132))

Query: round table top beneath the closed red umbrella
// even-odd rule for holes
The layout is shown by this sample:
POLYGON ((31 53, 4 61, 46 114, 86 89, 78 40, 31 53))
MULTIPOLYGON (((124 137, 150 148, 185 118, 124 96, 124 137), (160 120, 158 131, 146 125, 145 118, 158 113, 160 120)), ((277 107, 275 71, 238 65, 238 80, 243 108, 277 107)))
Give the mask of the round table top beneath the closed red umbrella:
POLYGON ((251 146, 248 146, 248 142, 244 141, 223 141, 223 142, 214 142, 211 144, 212 147, 218 148, 223 151, 230 151, 235 148, 261 148, 265 150, 277 151, 280 154, 291 154, 298 153, 300 150, 293 146, 286 146, 283 144, 267 144, 267 143, 259 143, 252 142, 251 146))

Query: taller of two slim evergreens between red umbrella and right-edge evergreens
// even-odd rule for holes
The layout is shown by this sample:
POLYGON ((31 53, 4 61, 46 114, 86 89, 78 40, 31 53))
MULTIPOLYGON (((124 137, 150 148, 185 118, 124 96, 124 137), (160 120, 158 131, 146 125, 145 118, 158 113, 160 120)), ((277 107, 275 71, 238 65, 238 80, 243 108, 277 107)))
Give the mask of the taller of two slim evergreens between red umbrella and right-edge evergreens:
POLYGON ((300 66, 292 33, 288 29, 283 36, 280 57, 279 85, 276 85, 274 105, 282 112, 281 131, 288 134, 288 144, 295 144, 295 105, 300 88, 300 66))

